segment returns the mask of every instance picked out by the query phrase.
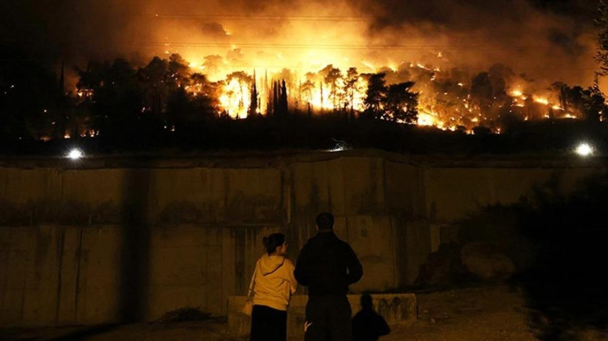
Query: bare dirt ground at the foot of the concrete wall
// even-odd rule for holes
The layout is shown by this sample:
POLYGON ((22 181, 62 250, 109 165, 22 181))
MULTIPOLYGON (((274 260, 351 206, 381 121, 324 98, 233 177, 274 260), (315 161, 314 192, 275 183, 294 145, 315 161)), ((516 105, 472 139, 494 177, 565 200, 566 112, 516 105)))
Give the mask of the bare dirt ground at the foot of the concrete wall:
MULTIPOLYGON (((523 295, 508 286, 420 293, 418 322, 393 327, 382 341, 396 340, 537 340, 528 324, 531 311, 523 295)), ((226 336, 226 321, 137 323, 89 328, 0 329, 2 340, 235 340, 226 336)), ((598 331, 576 331, 576 340, 603 340, 598 331)), ((245 340, 245 339, 239 339, 245 340)))

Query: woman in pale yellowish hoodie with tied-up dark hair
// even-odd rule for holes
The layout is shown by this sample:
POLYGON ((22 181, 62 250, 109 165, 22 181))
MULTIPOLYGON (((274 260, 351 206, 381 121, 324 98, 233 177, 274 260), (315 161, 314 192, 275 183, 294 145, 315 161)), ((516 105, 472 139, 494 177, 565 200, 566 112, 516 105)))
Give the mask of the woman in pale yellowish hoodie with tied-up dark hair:
POLYGON ((253 294, 250 341, 285 341, 287 307, 297 289, 294 265, 285 258, 287 242, 280 233, 264 237, 266 252, 255 263, 249 290, 253 294))

